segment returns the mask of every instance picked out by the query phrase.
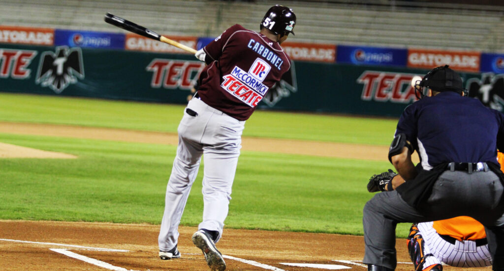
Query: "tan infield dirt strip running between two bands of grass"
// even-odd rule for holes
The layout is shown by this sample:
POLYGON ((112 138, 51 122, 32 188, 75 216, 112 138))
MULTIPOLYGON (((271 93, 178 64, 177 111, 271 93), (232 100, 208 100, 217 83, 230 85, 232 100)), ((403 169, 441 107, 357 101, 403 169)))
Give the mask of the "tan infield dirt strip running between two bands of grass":
MULTIPOLYGON (((178 140, 177 135, 174 133, 10 122, 0 122, 0 133, 105 139, 169 145, 176 145, 178 140)), ((376 161, 387 159, 387 153, 389 151, 387 146, 254 137, 243 137, 241 145, 242 150, 376 161)), ((416 155, 413 158, 414 161, 418 162, 416 155)))

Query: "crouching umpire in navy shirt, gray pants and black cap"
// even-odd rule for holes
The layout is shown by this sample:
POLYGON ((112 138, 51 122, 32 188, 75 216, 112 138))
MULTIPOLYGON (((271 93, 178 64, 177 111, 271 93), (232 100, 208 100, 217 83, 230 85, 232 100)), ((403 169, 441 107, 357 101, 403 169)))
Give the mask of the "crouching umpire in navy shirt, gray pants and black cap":
POLYGON ((496 159, 504 115, 463 97, 462 79, 448 65, 428 72, 415 91, 420 100, 404 110, 389 151, 407 181, 366 203, 363 262, 368 270, 395 269, 397 223, 470 216, 485 226, 493 270, 504 270, 504 174, 496 159))

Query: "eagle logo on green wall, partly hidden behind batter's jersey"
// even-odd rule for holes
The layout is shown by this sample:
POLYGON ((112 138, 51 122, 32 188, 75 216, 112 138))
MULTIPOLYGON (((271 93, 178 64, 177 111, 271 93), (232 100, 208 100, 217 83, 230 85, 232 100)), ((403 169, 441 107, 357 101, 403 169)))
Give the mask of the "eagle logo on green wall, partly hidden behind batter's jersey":
POLYGON ((297 92, 296 69, 294 62, 291 62, 290 69, 282 75, 279 82, 275 83, 263 98, 269 107, 273 107, 282 98, 289 97, 291 93, 297 92))

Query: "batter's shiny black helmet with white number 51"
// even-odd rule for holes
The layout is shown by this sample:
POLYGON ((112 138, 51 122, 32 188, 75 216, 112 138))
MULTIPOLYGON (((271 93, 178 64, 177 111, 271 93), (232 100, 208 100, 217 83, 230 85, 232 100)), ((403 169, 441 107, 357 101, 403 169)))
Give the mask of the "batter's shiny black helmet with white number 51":
POLYGON ((296 24, 296 15, 294 12, 284 6, 276 5, 271 7, 261 22, 261 29, 266 27, 276 35, 285 36, 289 33, 294 35, 292 31, 296 24))

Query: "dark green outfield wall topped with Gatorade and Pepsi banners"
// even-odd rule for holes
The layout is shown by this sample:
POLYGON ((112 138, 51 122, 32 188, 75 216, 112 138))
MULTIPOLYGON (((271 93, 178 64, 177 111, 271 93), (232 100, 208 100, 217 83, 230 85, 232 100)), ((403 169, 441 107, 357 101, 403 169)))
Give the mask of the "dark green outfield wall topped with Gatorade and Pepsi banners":
MULTIPOLYGON (((211 37, 173 37, 201 48, 211 37)), ((393 116, 415 101, 414 75, 445 63, 472 97, 503 111, 504 55, 288 43, 292 68, 259 108, 393 116)), ((204 68, 136 34, 0 26, 0 92, 184 104, 204 68)))

